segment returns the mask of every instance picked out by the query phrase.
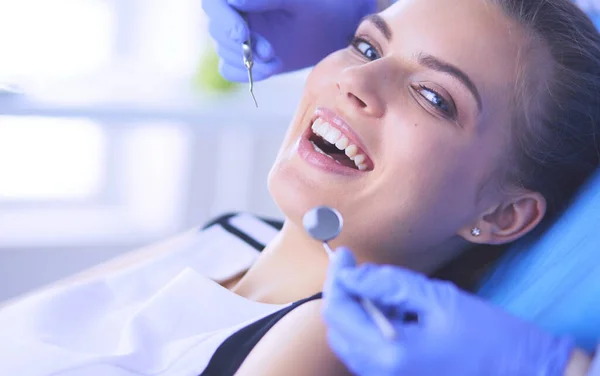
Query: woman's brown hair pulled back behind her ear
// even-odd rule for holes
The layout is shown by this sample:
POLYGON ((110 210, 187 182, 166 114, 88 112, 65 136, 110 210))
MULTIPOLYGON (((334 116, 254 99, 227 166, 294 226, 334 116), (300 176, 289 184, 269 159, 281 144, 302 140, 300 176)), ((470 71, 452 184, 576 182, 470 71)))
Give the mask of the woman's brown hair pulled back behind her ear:
MULTIPOLYGON (((532 234, 537 236, 568 207, 600 163, 600 34, 570 0, 486 1, 530 36, 520 54, 523 70, 513 98, 510 167, 501 180, 546 199, 546 215, 532 234), (530 52, 540 47, 550 61, 538 66, 530 52)), ((468 251, 436 277, 471 287, 506 247, 484 248, 468 251)))

